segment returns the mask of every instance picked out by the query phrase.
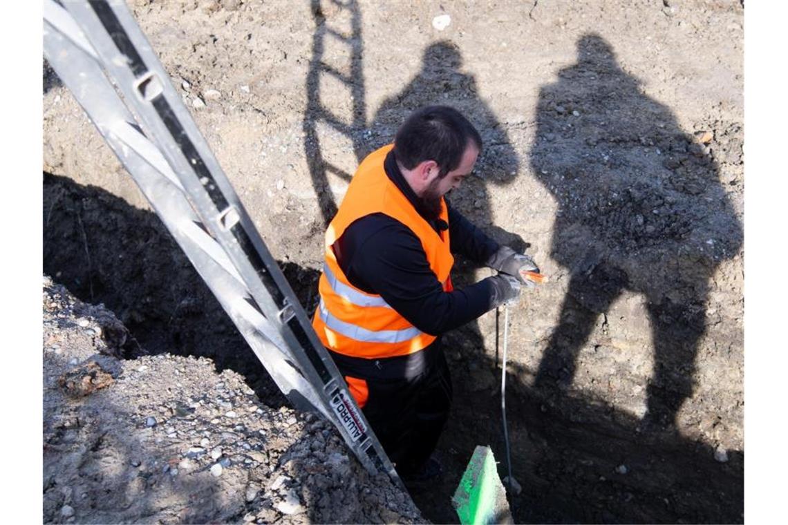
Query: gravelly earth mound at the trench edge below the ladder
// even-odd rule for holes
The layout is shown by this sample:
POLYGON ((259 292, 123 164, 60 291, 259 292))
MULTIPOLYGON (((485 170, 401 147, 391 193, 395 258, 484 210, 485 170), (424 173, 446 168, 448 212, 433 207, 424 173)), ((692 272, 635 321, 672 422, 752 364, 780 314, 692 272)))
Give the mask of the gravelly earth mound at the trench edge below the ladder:
POLYGON ((407 493, 370 476, 321 417, 264 405, 240 375, 217 373, 204 357, 106 355, 117 348, 82 330, 74 311, 116 323, 112 312, 44 282, 44 522, 424 521, 407 493), (62 355, 46 351, 54 345, 62 355), (58 378, 85 363, 113 380, 73 397, 58 378), (243 409, 221 417, 228 404, 243 409))

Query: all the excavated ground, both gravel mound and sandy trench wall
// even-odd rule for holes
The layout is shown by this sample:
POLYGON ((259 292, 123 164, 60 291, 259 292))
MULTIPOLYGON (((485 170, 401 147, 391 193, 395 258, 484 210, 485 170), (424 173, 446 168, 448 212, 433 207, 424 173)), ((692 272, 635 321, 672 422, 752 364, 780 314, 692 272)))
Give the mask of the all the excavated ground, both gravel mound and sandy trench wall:
MULTIPOLYGON (((448 198, 548 276, 510 309, 516 522, 743 521, 740 2, 131 6, 308 312, 359 160, 422 105, 476 125, 448 198)), ((45 522, 452 523, 475 446, 507 475, 503 315, 444 336, 414 508, 289 407, 46 63, 43 92, 45 522)))

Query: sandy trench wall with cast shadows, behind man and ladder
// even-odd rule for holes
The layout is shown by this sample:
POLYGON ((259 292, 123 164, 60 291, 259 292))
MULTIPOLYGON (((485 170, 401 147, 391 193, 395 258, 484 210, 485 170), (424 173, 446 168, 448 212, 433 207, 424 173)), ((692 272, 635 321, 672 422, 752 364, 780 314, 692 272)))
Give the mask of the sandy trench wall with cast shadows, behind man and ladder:
MULTIPOLYGON (((421 105, 477 125, 485 151, 452 203, 549 278, 510 311, 516 521, 743 520, 738 2, 132 5, 307 309, 359 159, 421 105)), ((210 357, 281 406, 46 67, 43 128, 45 271, 147 351, 210 357)), ((455 281, 486 275, 459 261, 455 281)), ((446 336, 448 471, 412 494, 434 521, 456 519, 474 446, 504 457, 502 323, 446 336)))

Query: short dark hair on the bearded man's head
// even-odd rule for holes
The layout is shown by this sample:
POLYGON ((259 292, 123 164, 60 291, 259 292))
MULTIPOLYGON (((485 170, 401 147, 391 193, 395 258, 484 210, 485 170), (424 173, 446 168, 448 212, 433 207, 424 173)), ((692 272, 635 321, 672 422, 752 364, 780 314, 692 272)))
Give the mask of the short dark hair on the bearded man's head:
POLYGON ((394 156, 406 169, 435 161, 443 178, 459 167, 468 142, 481 153, 481 136, 459 111, 448 105, 417 109, 400 126, 394 139, 394 156))

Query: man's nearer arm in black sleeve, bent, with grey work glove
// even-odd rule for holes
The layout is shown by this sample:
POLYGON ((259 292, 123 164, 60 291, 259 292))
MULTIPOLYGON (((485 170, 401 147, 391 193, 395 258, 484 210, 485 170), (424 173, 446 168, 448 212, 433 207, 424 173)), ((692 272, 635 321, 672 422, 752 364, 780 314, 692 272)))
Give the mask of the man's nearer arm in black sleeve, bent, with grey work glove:
POLYGON ((335 244, 340 268, 361 290, 379 294, 414 327, 438 335, 476 319, 516 292, 501 277, 445 292, 422 243, 391 217, 357 220, 335 244))

